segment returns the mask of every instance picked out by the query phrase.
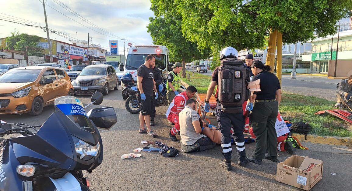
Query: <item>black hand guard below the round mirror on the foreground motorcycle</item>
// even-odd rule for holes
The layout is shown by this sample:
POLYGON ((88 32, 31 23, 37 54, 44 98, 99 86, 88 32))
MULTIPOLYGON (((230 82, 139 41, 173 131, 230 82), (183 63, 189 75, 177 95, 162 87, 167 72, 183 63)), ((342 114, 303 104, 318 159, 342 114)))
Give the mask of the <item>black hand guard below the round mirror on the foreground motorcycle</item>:
POLYGON ((106 130, 109 130, 117 122, 117 116, 113 107, 91 109, 87 115, 96 127, 106 130))

